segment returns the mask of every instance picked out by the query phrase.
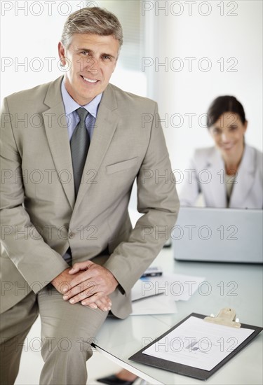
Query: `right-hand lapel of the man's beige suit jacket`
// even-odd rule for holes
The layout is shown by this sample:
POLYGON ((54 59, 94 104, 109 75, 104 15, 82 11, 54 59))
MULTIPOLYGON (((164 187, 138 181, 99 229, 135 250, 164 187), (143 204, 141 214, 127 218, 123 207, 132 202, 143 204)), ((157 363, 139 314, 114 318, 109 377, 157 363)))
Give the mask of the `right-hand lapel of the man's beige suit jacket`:
POLYGON ((95 129, 90 141, 90 148, 88 149, 88 156, 83 169, 83 178, 79 187, 79 193, 76 198, 74 209, 79 207, 88 188, 93 186, 94 183, 98 183, 97 172, 104 155, 107 153, 107 149, 112 141, 119 120, 119 115, 114 111, 116 109, 116 97, 112 90, 112 86, 108 85, 103 92, 102 100, 100 102, 97 119, 95 121, 95 129))

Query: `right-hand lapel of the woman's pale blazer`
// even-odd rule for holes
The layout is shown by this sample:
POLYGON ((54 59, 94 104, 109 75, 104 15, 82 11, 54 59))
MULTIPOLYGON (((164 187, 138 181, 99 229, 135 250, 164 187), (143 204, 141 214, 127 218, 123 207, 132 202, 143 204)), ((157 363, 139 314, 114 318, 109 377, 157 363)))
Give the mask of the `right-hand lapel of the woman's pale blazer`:
POLYGON ((229 207, 243 207, 243 202, 253 187, 255 169, 255 156, 252 148, 245 146, 241 164, 238 167, 236 184, 234 184, 231 193, 229 207), (233 204, 234 206, 232 206, 233 204))

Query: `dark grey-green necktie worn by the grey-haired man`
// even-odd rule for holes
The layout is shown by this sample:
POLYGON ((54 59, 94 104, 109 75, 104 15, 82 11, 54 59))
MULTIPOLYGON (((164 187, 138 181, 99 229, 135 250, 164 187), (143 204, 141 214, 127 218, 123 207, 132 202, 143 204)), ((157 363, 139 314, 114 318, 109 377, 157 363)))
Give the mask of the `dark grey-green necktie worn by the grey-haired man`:
POLYGON ((72 167, 74 175, 75 195, 78 195, 81 176, 86 162, 88 147, 90 146, 90 137, 86 129, 85 120, 88 116, 88 111, 80 107, 76 110, 79 115, 80 122, 72 134, 70 148, 72 151, 72 167))

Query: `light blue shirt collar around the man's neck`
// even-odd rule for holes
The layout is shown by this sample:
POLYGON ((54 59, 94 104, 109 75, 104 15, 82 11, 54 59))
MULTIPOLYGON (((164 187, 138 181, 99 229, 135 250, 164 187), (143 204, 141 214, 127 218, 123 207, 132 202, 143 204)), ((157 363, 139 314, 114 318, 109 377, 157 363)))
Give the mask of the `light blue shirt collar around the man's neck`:
POLYGON ((65 87, 65 80, 63 79, 61 83, 61 94, 66 115, 76 111, 76 109, 79 109, 79 107, 83 107, 90 113, 90 115, 92 115, 94 118, 97 118, 97 109, 99 107, 100 100, 102 99, 102 93, 98 94, 94 99, 92 99, 91 102, 85 106, 80 106, 79 103, 75 102, 74 99, 69 95, 69 92, 67 92, 65 87))

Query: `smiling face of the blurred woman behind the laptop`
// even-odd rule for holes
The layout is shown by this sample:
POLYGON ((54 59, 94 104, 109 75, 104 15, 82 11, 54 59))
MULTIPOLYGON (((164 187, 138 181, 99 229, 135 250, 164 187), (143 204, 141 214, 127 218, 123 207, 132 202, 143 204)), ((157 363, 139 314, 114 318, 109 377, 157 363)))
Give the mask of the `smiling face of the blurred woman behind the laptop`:
POLYGON ((209 131, 224 159, 234 158, 243 152, 243 137, 248 122, 244 124, 237 113, 225 112, 209 131))

